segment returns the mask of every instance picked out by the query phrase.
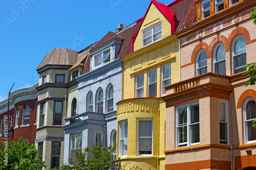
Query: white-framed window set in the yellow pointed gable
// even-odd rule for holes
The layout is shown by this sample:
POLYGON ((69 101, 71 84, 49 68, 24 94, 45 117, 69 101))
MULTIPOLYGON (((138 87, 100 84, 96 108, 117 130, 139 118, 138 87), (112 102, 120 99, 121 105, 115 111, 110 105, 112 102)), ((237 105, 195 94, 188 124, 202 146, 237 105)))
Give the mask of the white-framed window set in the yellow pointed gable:
POLYGON ((147 46, 162 39, 162 22, 142 31, 142 46, 147 46))

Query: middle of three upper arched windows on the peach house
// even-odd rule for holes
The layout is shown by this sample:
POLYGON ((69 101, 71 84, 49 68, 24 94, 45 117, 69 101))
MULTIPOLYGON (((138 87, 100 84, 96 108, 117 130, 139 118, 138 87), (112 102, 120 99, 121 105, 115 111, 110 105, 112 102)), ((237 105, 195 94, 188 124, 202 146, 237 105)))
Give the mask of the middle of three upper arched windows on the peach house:
POLYGON ((225 45, 219 43, 214 52, 214 72, 226 75, 225 45))

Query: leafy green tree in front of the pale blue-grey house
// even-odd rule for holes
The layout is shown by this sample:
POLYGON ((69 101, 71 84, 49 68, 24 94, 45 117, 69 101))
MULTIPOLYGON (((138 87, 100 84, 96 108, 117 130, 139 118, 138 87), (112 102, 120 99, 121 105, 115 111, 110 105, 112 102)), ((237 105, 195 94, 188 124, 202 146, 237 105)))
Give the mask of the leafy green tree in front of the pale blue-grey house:
POLYGON ((75 161, 69 159, 69 165, 62 165, 62 170, 82 170, 82 169, 113 169, 111 164, 115 163, 112 154, 116 147, 110 146, 103 148, 103 141, 96 147, 93 145, 91 148, 85 148, 83 152, 75 153, 75 161))

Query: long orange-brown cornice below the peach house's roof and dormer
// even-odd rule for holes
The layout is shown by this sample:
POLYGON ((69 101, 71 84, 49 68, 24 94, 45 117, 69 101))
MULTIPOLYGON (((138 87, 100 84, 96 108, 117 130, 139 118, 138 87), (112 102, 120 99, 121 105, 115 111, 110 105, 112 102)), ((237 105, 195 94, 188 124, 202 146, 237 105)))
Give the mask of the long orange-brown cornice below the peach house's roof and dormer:
POLYGON ((256 5, 256 1, 247 0, 237 6, 228 8, 227 10, 225 10, 223 12, 216 13, 215 15, 213 15, 209 18, 202 19, 201 21, 195 23, 195 25, 189 26, 183 30, 176 32, 175 35, 179 39, 183 38, 189 34, 200 31, 209 26, 215 25, 216 23, 218 23, 222 20, 225 20, 231 16, 235 16, 239 13, 242 13, 242 12, 246 11, 247 9, 254 7, 255 5, 256 5))

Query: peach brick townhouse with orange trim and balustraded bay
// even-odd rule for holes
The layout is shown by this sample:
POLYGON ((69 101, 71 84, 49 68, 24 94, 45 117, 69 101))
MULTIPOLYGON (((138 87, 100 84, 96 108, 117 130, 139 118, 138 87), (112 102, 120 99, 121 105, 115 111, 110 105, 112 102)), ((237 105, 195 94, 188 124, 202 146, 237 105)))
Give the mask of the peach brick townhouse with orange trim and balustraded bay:
POLYGON ((165 87, 165 169, 255 169, 254 0, 193 0, 175 33, 180 82, 165 87))

